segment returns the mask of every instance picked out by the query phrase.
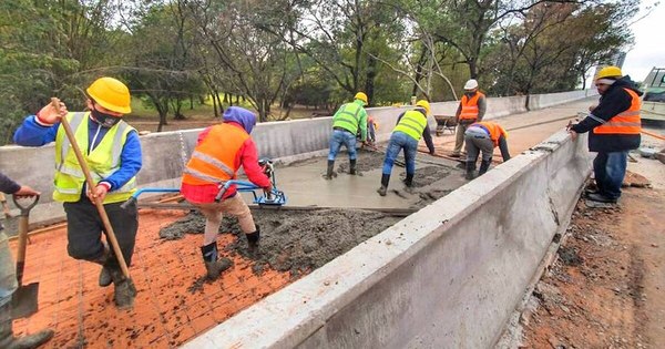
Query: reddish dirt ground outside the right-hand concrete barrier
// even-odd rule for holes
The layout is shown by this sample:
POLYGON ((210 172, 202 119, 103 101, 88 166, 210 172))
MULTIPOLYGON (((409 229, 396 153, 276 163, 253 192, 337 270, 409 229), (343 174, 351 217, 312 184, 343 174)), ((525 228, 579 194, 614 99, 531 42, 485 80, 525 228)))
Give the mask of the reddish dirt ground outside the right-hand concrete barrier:
POLYGON ((577 204, 559 260, 522 315, 523 348, 664 348, 665 192, 577 204))

